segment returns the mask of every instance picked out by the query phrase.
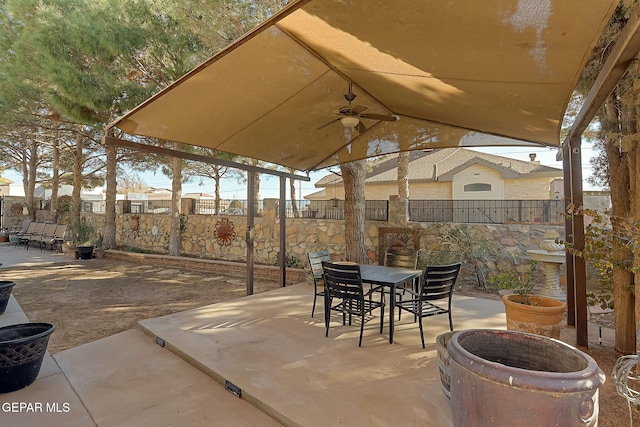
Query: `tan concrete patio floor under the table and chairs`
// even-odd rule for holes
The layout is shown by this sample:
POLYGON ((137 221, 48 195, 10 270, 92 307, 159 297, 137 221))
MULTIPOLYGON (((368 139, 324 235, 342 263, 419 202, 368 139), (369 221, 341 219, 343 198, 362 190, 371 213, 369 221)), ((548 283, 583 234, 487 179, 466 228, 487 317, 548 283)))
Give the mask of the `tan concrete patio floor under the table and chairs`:
MULTIPOLYGON (((425 319, 425 350, 406 315, 389 344, 387 313, 383 334, 378 316, 365 324, 359 348, 359 324, 343 326, 338 316, 324 336, 311 295, 311 284, 289 286, 47 354, 32 385, 0 394, 0 425, 452 425, 435 346, 447 316, 425 319)), ((0 326, 26 321, 11 298, 0 326)), ((453 321, 504 329, 504 308, 454 295, 453 321)))

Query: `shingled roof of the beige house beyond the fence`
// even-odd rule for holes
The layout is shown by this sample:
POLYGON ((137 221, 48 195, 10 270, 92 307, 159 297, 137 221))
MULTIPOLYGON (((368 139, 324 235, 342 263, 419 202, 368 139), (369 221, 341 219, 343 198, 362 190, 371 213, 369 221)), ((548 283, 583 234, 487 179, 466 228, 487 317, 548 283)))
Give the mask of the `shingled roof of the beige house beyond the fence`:
MULTIPOLYGON (((367 183, 396 182, 398 179, 398 156, 373 166, 367 172, 367 183)), ((562 169, 541 165, 537 161, 523 161, 481 153, 464 148, 443 148, 432 151, 413 151, 409 156, 409 181, 451 181, 453 176, 468 167, 480 164, 502 173, 504 178, 523 176, 562 177, 562 169)), ((342 178, 330 174, 321 178, 316 187, 328 187, 342 182, 342 178)))

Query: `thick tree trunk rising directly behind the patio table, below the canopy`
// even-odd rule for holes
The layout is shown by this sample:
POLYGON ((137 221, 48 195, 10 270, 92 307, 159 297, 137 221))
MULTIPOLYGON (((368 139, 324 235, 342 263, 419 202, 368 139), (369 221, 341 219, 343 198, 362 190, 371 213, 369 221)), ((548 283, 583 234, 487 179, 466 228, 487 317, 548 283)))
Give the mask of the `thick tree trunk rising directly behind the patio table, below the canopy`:
POLYGON ((344 233, 348 261, 368 264, 364 226, 365 161, 340 165, 344 182, 344 233))

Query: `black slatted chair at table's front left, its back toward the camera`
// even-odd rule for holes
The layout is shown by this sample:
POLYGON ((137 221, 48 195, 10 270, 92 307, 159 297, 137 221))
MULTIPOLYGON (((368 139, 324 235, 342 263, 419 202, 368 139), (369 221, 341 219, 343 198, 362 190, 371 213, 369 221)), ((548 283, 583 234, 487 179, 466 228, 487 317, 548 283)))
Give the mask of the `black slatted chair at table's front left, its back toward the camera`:
POLYGON ((325 336, 329 336, 329 320, 331 311, 342 313, 342 324, 346 323, 346 316, 349 315, 349 325, 352 316, 360 317, 360 339, 358 347, 362 347, 362 333, 364 332, 365 315, 373 314, 373 310, 380 309, 380 333, 384 327, 384 292, 380 293, 380 301, 374 301, 370 297, 369 291, 365 294, 362 287, 362 276, 360 267, 357 264, 322 262, 324 272, 324 323, 325 336), (340 302, 334 305, 333 300, 340 302))

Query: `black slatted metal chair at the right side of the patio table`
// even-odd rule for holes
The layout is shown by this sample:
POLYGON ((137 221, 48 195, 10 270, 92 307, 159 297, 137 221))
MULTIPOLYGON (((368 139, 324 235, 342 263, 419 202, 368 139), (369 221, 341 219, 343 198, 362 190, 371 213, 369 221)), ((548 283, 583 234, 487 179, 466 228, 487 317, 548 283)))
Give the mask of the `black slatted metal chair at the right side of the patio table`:
POLYGON ((451 319, 451 297, 453 287, 460 272, 460 263, 451 265, 427 266, 420 280, 420 289, 416 292, 413 289, 406 289, 411 295, 410 299, 396 302, 396 307, 400 310, 413 314, 414 320, 418 320, 420 326, 420 339, 422 348, 424 346, 424 332, 422 330, 422 319, 424 317, 436 316, 438 314, 449 315, 449 329, 453 331, 453 320, 451 319), (446 305, 433 303, 432 301, 446 300, 446 305))

